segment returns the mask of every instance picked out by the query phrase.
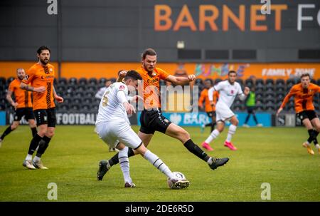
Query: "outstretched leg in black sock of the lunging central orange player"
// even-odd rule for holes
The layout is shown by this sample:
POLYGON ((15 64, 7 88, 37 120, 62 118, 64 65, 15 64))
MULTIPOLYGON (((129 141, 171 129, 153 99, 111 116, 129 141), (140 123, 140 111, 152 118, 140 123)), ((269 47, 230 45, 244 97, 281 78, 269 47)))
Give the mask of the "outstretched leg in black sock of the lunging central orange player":
POLYGON ((204 160, 211 169, 215 170, 221 165, 224 165, 228 162, 229 158, 214 158, 207 155, 201 148, 198 147, 190 138, 190 135, 186 130, 181 128, 174 123, 169 124, 168 128, 166 129, 166 135, 171 136, 172 138, 176 138, 183 143, 184 147, 188 149, 193 155, 196 155, 201 160, 204 160))

